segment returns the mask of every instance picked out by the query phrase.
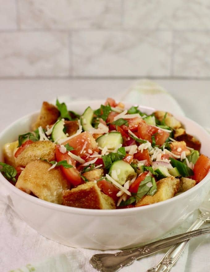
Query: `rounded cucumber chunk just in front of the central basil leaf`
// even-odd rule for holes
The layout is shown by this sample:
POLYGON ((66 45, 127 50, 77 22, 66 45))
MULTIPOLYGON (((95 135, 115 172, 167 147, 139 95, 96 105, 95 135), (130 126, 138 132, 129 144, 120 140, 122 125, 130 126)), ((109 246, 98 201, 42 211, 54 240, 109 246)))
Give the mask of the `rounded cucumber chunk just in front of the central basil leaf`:
POLYGON ((124 183, 128 179, 132 179, 135 175, 136 172, 134 169, 125 162, 124 160, 117 160, 115 161, 110 169, 109 169, 109 175, 116 180, 120 185, 124 185, 124 183), (115 170, 115 171, 114 171, 115 170))

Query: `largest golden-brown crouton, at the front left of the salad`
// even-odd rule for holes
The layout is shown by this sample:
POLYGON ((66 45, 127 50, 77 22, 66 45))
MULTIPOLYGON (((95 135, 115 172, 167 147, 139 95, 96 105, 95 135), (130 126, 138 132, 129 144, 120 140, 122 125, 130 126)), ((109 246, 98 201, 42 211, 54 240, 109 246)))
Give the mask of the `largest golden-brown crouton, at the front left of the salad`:
POLYGON ((48 171, 52 165, 43 160, 29 162, 21 172, 15 186, 38 198, 61 204, 62 191, 68 189, 68 182, 59 168, 48 171))

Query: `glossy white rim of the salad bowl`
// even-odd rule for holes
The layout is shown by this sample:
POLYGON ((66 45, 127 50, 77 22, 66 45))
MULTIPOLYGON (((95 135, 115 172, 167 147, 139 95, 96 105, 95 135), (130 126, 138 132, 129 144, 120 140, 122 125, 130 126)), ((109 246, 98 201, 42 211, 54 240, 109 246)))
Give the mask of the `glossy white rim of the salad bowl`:
MULTIPOLYGON (((66 103, 66 104, 68 105, 68 104, 78 104, 78 103, 80 103, 80 104, 104 103, 104 100, 91 100, 91 101, 89 101, 89 100, 76 100, 76 101, 72 101, 72 102, 66 103)), ((127 103, 127 104, 131 104, 131 103, 127 103)), ((153 110, 153 111, 156 110, 154 108, 147 107, 147 106, 141 106, 141 105, 139 105, 139 108, 147 109, 147 110, 149 109, 149 110, 153 110)), ((15 125, 16 123, 18 123, 24 119, 31 118, 32 116, 34 116, 35 114, 38 114, 39 112, 40 111, 36 111, 36 112, 26 114, 23 117, 20 117, 19 119, 12 122, 4 130, 2 130, 2 132, 0 133, 0 139, 7 132, 7 130, 11 129, 11 127, 13 125, 15 125)), ((202 134, 207 136, 210 141, 210 134, 201 125, 199 125, 198 123, 196 123, 195 121, 191 120, 190 118, 188 118, 186 116, 181 116, 181 115, 179 116, 177 114, 173 114, 173 115, 176 118, 178 118, 178 120, 184 118, 186 121, 190 121, 193 123, 193 125, 198 126, 199 129, 202 131, 202 134)), ((15 187, 15 185, 11 184, 9 181, 7 181, 7 179, 2 174, 0 174, 0 181, 7 188, 7 190, 12 190, 15 194, 19 195, 19 197, 23 197, 30 202, 34 202, 34 204, 36 204, 36 205, 44 206, 48 209, 57 210, 60 212, 65 212, 65 213, 67 212, 67 213, 79 214, 79 215, 97 215, 97 216, 116 216, 116 215, 125 216, 125 215, 132 215, 132 214, 139 213, 141 210, 148 210, 148 212, 149 212, 150 209, 153 209, 158 206, 159 207, 164 206, 164 205, 167 205, 168 203, 173 203, 175 201, 179 201, 179 199, 182 199, 183 197, 187 197, 187 195, 193 194, 196 190, 198 190, 201 186, 203 186, 203 184, 207 183, 208 180, 210 180, 210 171, 208 172, 208 174, 205 176, 205 178, 202 181, 200 181, 198 184, 196 184, 196 186, 187 190, 186 192, 183 192, 177 196, 174 196, 173 198, 170 198, 170 199, 167 199, 167 200, 164 200, 161 202, 153 203, 151 205, 145 205, 145 206, 140 206, 140 207, 125 208, 125 209, 122 208, 122 209, 114 209, 114 210, 99 210, 99 209, 84 209, 84 208, 70 207, 70 206, 65 206, 65 205, 61 205, 61 204, 57 204, 57 203, 48 202, 48 201, 42 200, 40 198, 36 198, 30 194, 23 192, 22 190, 18 189, 17 187, 15 187)), ((6 191, 7 196, 10 196, 9 192, 6 191)))

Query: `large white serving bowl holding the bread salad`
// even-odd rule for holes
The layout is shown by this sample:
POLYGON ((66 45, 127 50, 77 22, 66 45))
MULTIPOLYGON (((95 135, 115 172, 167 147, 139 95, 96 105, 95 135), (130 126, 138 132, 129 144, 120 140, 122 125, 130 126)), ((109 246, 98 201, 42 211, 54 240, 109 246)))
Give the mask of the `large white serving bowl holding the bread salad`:
MULTIPOLYGON (((99 108, 103 101, 72 102, 69 110, 82 113, 87 106, 99 108)), ((127 104, 126 108, 132 106, 127 104)), ((153 109, 140 107, 151 113, 153 109)), ((27 115, 0 134, 0 161, 6 142, 30 131, 38 113, 27 115)), ((194 121, 176 116, 187 132, 202 143, 201 153, 210 157, 210 135, 194 121)), ((17 189, 0 174, 1 198, 29 226, 43 236, 72 247, 90 249, 131 248, 154 240, 181 224, 202 203, 210 189, 210 173, 195 187, 156 204, 120 210, 92 210, 62 206, 35 198, 17 189)))

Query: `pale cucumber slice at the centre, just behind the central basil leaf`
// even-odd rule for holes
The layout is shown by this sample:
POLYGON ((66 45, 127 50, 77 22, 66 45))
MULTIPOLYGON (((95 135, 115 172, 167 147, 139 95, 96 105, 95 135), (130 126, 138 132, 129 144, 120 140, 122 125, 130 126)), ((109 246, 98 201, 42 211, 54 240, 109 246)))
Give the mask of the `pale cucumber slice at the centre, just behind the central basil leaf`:
POLYGON ((108 149, 115 149, 119 144, 123 143, 123 137, 120 132, 110 132, 106 133, 96 139, 99 147, 108 149))

